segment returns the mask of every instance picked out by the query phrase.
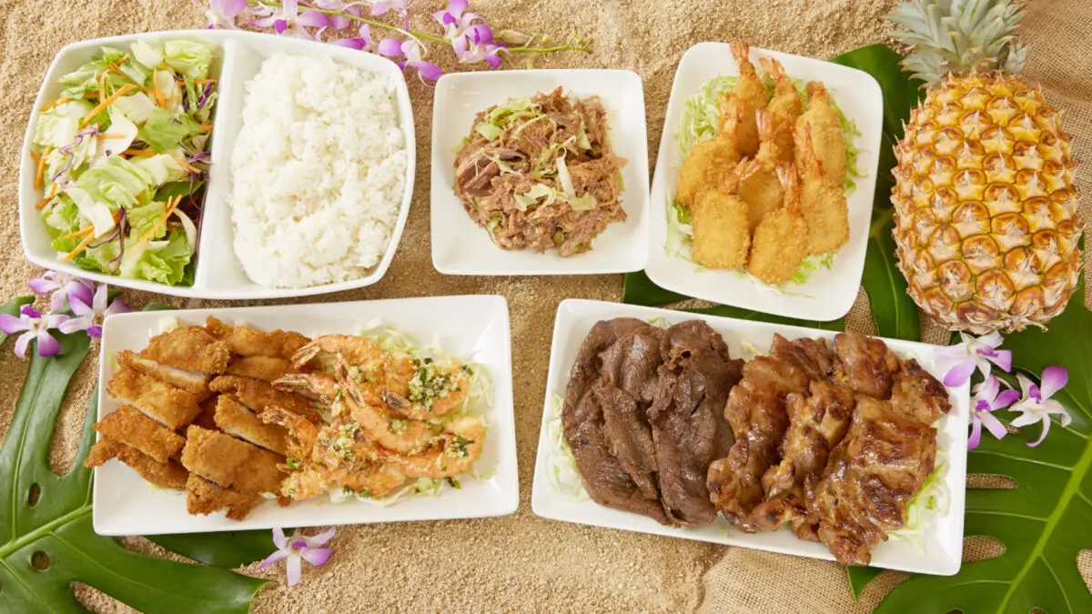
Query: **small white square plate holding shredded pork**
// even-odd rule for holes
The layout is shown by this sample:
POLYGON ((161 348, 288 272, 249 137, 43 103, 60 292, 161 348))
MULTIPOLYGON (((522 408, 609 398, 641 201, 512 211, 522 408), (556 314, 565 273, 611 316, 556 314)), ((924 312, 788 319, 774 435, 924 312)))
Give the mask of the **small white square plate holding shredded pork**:
POLYGON ((628 70, 506 70, 444 74, 432 110, 432 265, 451 275, 574 275, 628 273, 644 268, 649 251, 649 145, 641 78, 628 70), (591 251, 567 258, 557 250, 507 250, 489 239, 455 198, 453 147, 471 133, 474 117, 508 98, 565 87, 570 96, 598 96, 610 142, 625 158, 621 206, 626 221, 607 226, 591 251))

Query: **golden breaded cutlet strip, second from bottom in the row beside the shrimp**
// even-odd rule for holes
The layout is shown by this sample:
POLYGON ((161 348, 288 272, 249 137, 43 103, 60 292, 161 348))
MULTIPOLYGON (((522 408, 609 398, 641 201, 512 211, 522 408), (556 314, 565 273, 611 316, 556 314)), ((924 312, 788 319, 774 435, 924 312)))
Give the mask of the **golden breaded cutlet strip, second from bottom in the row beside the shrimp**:
POLYGON ((285 474, 277 469, 284 457, 230 435, 190 426, 186 430, 182 464, 186 469, 240 493, 280 493, 285 474))

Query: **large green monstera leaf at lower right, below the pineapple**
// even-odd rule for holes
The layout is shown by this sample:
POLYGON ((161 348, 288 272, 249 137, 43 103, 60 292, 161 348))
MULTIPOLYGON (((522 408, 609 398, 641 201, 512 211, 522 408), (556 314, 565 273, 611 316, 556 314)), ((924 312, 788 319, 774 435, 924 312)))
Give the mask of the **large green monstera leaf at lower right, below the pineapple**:
MULTIPOLYGON (((1020 370, 1037 376, 1061 365, 1069 385, 1055 399, 1072 415, 1068 427, 1057 421, 1036 448, 1038 426, 1000 441, 983 437, 968 454, 969 474, 1004 475, 1011 489, 966 492, 966 536, 1000 541, 1004 554, 964 563, 951 577, 914 576, 899 585, 876 610, 902 612, 1006 612, 1037 609, 1049 614, 1092 612, 1092 593, 1081 579, 1077 556, 1092 548, 1092 312, 1078 288, 1069 307, 1051 321, 1047 332, 1026 330, 1007 335, 1020 370)), ((1005 420, 1006 412, 998 412, 1005 420)), ((852 576, 852 575, 851 575, 852 576)))

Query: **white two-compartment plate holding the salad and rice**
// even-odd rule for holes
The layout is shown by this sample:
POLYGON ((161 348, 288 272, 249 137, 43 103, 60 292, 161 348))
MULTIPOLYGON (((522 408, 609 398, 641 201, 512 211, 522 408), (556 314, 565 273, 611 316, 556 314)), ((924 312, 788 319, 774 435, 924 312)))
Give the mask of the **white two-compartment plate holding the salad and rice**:
POLYGON ((50 64, 41 90, 38 92, 38 97, 34 102, 34 111, 31 114, 31 121, 26 128, 19 174, 19 217, 20 232, 23 236, 23 251, 31 262, 39 267, 63 271, 96 282, 174 296, 219 299, 282 298, 340 292, 371 285, 378 282, 390 267, 402 236, 402 228, 405 226, 411 196, 413 194, 415 152, 413 108, 410 106, 410 94, 406 91, 405 79, 394 62, 375 54, 361 54, 335 45, 322 45, 287 36, 227 29, 153 32, 75 43, 61 49, 50 64), (128 47, 136 39, 162 43, 178 38, 200 40, 221 47, 212 68, 212 74, 219 79, 221 87, 213 117, 212 168, 205 192, 204 220, 199 229, 193 285, 189 287, 168 286, 144 280, 128 280, 84 271, 70 262, 61 262, 57 252, 49 247, 51 238, 45 223, 34 208, 45 196, 40 189, 34 189, 36 165, 29 154, 34 129, 38 122, 38 109, 54 101, 61 91, 57 80, 91 60, 99 52, 99 47, 121 48, 128 47), (406 143, 405 193, 402 197, 397 223, 392 231, 391 240, 382 260, 371 272, 360 279, 304 288, 268 288, 251 282, 235 256, 234 229, 227 197, 230 193, 232 150, 235 138, 242 127, 242 103, 246 94, 244 87, 246 82, 257 74, 262 61, 278 52, 329 56, 346 64, 385 75, 394 83, 399 123, 406 143))

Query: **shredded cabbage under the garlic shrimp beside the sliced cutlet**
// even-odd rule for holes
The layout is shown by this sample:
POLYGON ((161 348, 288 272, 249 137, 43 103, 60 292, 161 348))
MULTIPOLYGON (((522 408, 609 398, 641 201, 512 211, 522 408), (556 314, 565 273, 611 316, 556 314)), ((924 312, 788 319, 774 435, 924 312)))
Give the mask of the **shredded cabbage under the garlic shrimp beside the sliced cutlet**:
MULTIPOLYGON (((434 336, 427 344, 419 344, 405 332, 393 327, 384 326, 378 319, 365 324, 360 334, 375 341, 388 352, 402 352, 410 354, 415 358, 432 358, 437 362, 452 357, 460 359, 458 356, 452 356, 452 354, 442 349, 439 336, 434 336)), ((486 434, 488 435, 490 421, 488 414, 485 412, 492 406, 492 376, 489 374, 489 369, 480 363, 466 361, 461 362, 471 368, 471 388, 463 403, 449 415, 477 416, 486 426, 486 434)), ((462 488, 462 482, 467 477, 484 481, 490 480, 494 475, 496 475, 496 468, 482 472, 479 471, 480 464, 482 460, 479 459, 478 462, 474 464, 474 471, 458 477, 443 477, 439 480, 420 477, 415 482, 410 482, 400 491, 382 498, 366 497, 358 495, 353 491, 343 488, 331 488, 329 493, 330 501, 340 504, 353 499, 379 507, 387 507, 402 499, 414 496, 438 496, 449 488, 462 488)))

